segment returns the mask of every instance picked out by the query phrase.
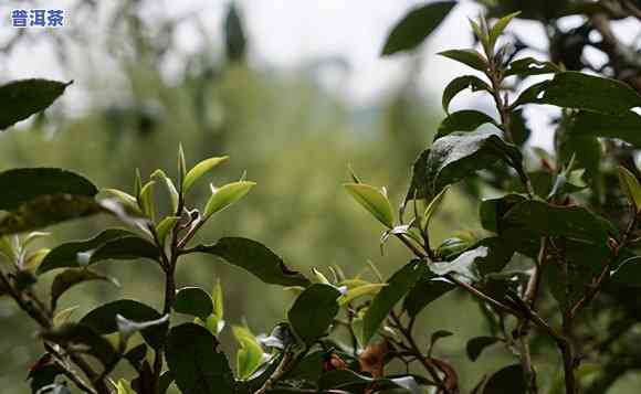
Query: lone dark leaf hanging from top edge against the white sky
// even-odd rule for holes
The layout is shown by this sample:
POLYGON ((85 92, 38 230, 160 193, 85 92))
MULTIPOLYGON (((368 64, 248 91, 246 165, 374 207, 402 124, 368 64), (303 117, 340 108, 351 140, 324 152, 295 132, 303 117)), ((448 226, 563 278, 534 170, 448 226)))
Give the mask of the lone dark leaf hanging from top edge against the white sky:
POLYGON ((455 1, 435 1, 409 11, 391 30, 381 55, 392 55, 420 45, 455 4, 455 1))

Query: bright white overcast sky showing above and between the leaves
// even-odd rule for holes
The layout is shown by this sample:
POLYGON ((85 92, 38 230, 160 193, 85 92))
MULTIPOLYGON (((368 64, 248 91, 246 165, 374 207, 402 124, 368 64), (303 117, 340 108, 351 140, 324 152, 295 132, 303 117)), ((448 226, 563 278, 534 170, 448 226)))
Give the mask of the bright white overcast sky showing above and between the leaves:
MULTIPOLYGON (((10 11, 15 8, 61 8, 71 10, 74 0, 33 2, 4 0, 0 4, 2 28, 0 42, 13 33, 10 11)), ((411 7, 424 1, 416 0, 238 0, 243 10, 245 25, 251 38, 252 61, 259 66, 276 68, 296 67, 306 62, 323 57, 339 56, 350 66, 349 74, 340 84, 329 84, 328 88, 337 89, 355 105, 369 105, 380 98, 381 94, 402 81, 406 55, 390 58, 379 57, 380 49, 391 26, 411 7)), ((155 0, 147 1, 149 14, 169 12, 172 15, 196 13, 201 23, 210 31, 214 42, 220 42, 221 21, 228 4, 227 0, 155 0)), ((106 4, 106 3, 102 3, 106 4)), ((421 74, 421 87, 430 92, 438 100, 439 92, 453 77, 469 73, 464 66, 437 56, 445 49, 465 47, 471 44, 467 18, 474 18, 480 9, 471 1, 461 1, 442 28, 428 41, 424 51, 424 67, 421 74)), ((579 20, 580 21, 580 20, 579 20)), ((70 13, 66 22, 74 23, 70 13)), ((575 19, 568 25, 577 23, 575 19)), ((631 42, 639 32, 634 24, 620 23, 618 31, 624 41, 631 42)), ((527 42, 545 47, 545 39, 538 24, 518 21, 516 29, 527 42)), ((30 30, 29 34, 46 34, 45 30, 30 30)), ((92 31, 96 35, 106 32, 92 31)), ((202 43, 192 24, 185 24, 178 30, 178 39, 186 51, 196 51, 202 43)), ((82 53, 82 50, 81 50, 82 53)), ((76 78, 67 75, 69 71, 55 67, 51 47, 24 46, 19 49, 8 64, 2 64, 3 77, 52 77, 61 79, 76 78)), ((475 95, 477 97, 479 95, 475 95)), ((453 107, 471 104, 471 99, 458 98, 453 107)), ((76 102, 81 102, 76 99, 76 102)), ((438 103, 438 102, 437 102, 438 103)), ((534 116, 536 129, 545 127, 546 113, 534 116)), ((549 134, 548 134, 549 135, 549 134)), ((550 140, 537 136, 537 145, 549 146, 550 140)))

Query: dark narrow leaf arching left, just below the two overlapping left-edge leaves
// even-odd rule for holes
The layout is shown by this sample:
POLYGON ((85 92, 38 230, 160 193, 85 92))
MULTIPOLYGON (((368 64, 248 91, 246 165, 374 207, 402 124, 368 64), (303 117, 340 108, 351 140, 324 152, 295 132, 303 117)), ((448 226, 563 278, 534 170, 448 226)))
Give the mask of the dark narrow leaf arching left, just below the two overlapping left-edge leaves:
MULTIPOLYGON (((134 235, 134 233, 127 230, 108 228, 90 239, 74 241, 59 245, 49 252, 49 254, 44 257, 38 267, 36 273, 38 275, 42 275, 56 268, 82 267, 85 265, 81 263, 81 260, 83 260, 82 254, 87 254, 88 252, 104 245, 108 241, 132 235, 134 235)), ((87 259, 88 255, 86 258, 84 258, 84 260, 87 259)))

